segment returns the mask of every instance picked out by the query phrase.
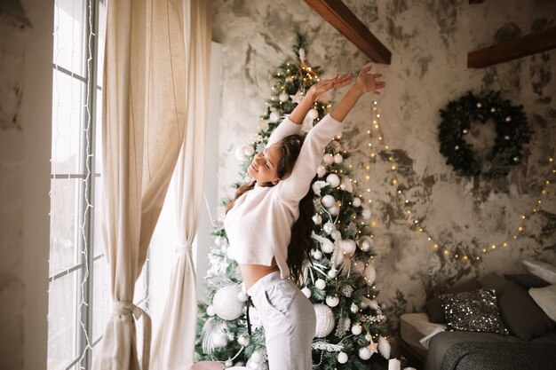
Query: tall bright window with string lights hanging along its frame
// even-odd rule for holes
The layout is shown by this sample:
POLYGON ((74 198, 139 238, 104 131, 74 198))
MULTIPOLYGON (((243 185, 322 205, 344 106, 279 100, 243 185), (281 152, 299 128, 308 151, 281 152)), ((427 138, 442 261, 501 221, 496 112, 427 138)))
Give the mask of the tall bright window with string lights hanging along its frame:
MULTIPOLYGON (((48 369, 90 369, 111 315, 100 233, 105 0, 54 12, 48 369)), ((148 309, 148 259, 135 304, 148 309)))

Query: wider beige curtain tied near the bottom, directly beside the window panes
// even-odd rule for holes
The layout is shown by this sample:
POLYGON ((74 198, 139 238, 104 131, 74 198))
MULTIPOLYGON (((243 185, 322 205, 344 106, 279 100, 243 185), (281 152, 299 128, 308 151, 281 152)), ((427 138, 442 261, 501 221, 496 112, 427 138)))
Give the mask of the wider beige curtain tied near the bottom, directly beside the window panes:
POLYGON ((140 368, 147 370, 150 318, 132 304, 133 290, 184 138, 187 4, 114 0, 107 6, 103 237, 114 305, 93 368, 135 370, 140 357, 140 368), (139 318, 142 356, 136 344, 139 318))

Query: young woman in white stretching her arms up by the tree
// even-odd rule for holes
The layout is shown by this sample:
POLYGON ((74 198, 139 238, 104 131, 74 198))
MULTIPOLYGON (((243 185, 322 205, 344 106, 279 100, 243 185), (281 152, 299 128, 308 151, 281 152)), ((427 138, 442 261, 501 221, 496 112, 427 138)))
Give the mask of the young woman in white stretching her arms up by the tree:
POLYGON ((237 189, 226 207, 228 256, 239 264, 265 328, 269 370, 312 368, 313 304, 292 281, 298 281, 311 250, 311 181, 346 114, 363 94, 379 94, 385 86, 376 81, 381 75, 369 74, 370 69, 361 70, 344 98, 304 140, 298 133, 315 99, 350 83, 351 77, 337 75, 315 83, 274 130, 266 149, 255 155, 248 169, 252 180, 237 189))

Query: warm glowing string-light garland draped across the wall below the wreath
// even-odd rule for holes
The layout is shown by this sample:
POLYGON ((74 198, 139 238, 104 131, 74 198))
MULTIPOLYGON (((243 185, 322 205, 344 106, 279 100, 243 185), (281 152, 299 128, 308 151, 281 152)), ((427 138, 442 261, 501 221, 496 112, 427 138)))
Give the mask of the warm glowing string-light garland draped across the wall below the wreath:
MULTIPOLYGON (((370 111, 371 111, 372 118, 371 118, 370 129, 367 130, 367 134, 369 135, 368 146, 370 148, 369 158, 376 161, 377 154, 379 154, 381 151, 382 152, 388 151, 390 147, 388 145, 385 145, 384 135, 380 130, 380 122, 379 122, 380 113, 378 111, 377 101, 373 101, 370 111), (373 145, 370 139, 374 138, 375 136, 378 139, 378 144, 382 144, 382 147, 377 147, 377 145, 373 145)), ((398 179, 395 175, 395 172, 399 168, 399 165, 395 162, 393 155, 388 155, 387 161, 389 163, 390 170, 393 172, 393 177, 390 180, 390 184, 396 186, 395 193, 399 194, 400 196, 403 196, 403 188, 401 186, 397 186, 398 179)), ((548 190, 546 189, 546 186, 551 185, 555 180, 556 168, 554 167, 554 159, 552 157, 549 157, 545 160, 544 164, 549 166, 549 172, 544 179, 544 186, 542 186, 540 194, 538 195, 538 197, 536 197, 535 205, 530 208, 530 211, 520 213, 520 224, 510 233, 509 237, 504 238, 503 241, 500 241, 499 243, 481 243, 480 252, 473 252, 469 250, 465 251, 460 249, 456 251, 450 250, 445 245, 442 245, 442 243, 438 241, 437 238, 433 237, 433 234, 426 230, 425 225, 419 223, 420 220, 419 217, 417 216, 417 212, 415 212, 411 208, 411 201, 409 201, 408 199, 404 199, 403 203, 405 204, 405 211, 403 213, 406 215, 406 218, 409 219, 410 221, 409 228, 411 230, 414 230, 415 232, 425 234, 426 239, 431 242, 431 248, 433 248, 434 251, 440 253, 441 256, 444 256, 446 258, 451 257, 454 260, 457 260, 462 263, 478 263, 481 261, 482 256, 484 256, 489 252, 493 252, 498 249, 510 248, 510 240, 517 240, 522 235, 523 231, 525 230, 525 220, 527 220, 529 216, 535 214, 541 209, 541 204, 543 203, 542 198, 549 194, 548 190)), ((367 165, 365 169, 367 170, 365 179, 369 181, 370 166, 367 165)), ((367 188, 367 192, 370 192, 369 187, 367 188)), ((371 201, 369 200, 369 203, 370 202, 371 201)), ((377 223, 373 221, 371 222, 370 226, 375 227, 376 224, 377 223)))

